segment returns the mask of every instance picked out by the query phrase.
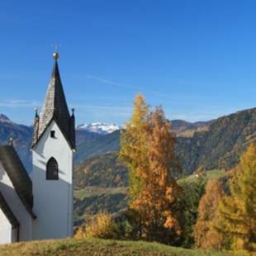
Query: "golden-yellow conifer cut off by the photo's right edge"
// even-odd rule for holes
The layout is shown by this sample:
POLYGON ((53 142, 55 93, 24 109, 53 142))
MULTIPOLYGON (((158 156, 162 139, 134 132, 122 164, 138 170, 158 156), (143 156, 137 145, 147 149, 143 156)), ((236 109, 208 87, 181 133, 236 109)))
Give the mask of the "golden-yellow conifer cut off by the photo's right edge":
POLYGON ((216 230, 230 235, 232 249, 256 250, 256 145, 249 145, 230 178, 230 195, 220 201, 216 230))

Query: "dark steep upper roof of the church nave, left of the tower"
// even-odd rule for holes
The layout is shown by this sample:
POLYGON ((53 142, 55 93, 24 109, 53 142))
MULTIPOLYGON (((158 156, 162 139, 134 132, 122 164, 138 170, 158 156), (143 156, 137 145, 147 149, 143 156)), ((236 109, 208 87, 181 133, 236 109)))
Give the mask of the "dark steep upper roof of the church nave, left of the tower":
POLYGON ((31 178, 12 145, 0 146, 0 162, 11 179, 13 187, 18 197, 20 197, 21 202, 26 207, 26 210, 33 218, 36 218, 36 215, 32 211, 33 194, 31 178))

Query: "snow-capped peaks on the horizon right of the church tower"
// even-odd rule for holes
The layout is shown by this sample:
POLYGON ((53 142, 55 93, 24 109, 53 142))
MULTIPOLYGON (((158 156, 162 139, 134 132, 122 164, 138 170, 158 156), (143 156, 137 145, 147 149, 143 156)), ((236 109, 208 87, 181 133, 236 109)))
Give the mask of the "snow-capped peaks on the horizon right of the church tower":
POLYGON ((91 124, 83 124, 77 127, 78 130, 87 130, 100 135, 107 135, 115 130, 120 130, 121 126, 116 126, 114 124, 105 124, 102 122, 95 122, 91 124))

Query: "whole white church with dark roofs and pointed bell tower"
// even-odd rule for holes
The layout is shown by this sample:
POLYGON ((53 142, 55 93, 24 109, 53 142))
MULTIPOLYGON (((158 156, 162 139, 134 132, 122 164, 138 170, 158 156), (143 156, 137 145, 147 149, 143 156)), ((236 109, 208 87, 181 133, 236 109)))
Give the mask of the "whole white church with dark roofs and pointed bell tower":
POLYGON ((73 235, 75 121, 59 76, 58 53, 34 122, 29 175, 13 145, 0 145, 0 244, 73 235))

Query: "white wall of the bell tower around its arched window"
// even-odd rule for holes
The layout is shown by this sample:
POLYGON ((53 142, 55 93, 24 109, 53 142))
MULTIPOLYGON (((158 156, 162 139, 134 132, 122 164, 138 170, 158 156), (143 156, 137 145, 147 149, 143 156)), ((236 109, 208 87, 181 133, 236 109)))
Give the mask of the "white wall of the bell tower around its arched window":
POLYGON ((56 239, 73 235, 73 151, 52 121, 32 150, 34 212, 33 239, 56 239), (50 131, 55 130, 55 138, 50 131), (59 180, 46 180, 46 164, 54 157, 59 180))

